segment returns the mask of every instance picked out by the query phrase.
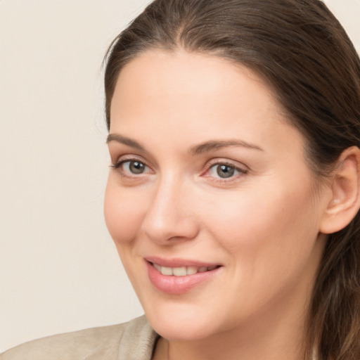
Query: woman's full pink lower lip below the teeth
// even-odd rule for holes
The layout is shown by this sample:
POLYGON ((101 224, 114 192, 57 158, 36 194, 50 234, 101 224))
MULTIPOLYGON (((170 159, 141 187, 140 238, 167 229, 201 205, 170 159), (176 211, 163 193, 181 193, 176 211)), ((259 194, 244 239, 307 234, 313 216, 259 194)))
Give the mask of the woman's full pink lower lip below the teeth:
POLYGON ((148 266, 150 281, 155 288, 170 295, 188 293, 188 291, 195 288, 196 285, 204 283, 214 276, 217 276, 222 267, 220 266, 217 269, 193 275, 174 276, 161 274, 150 262, 146 261, 146 266, 148 266))

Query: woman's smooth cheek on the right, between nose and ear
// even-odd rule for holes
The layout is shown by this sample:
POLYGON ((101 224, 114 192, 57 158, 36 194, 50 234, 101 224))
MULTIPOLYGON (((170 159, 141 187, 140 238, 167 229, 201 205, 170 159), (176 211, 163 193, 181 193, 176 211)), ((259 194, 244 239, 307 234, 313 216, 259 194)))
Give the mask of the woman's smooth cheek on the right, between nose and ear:
POLYGON ((269 181, 266 188, 214 199, 214 207, 204 207, 207 229, 227 252, 254 266, 264 263, 264 257, 286 262, 287 255, 311 251, 319 232, 314 197, 304 183, 295 189, 289 184, 271 186, 269 181))

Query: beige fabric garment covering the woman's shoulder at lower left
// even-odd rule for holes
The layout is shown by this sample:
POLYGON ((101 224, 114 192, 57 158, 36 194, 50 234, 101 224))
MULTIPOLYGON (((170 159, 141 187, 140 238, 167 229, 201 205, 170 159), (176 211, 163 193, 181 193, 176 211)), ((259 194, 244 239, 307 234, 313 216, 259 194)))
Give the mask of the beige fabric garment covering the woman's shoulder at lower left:
POLYGON ((0 354, 0 360, 150 360, 157 338, 141 316, 128 323, 26 342, 0 354))

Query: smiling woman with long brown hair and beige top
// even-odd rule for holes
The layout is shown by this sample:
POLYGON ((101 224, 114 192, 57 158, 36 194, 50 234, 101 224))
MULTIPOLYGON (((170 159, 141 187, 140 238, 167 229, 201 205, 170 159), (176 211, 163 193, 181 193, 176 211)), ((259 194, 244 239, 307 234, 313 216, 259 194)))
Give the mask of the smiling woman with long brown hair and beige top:
POLYGON ((155 0, 105 94, 105 220, 146 318, 0 359, 360 359, 360 61, 326 6, 155 0))

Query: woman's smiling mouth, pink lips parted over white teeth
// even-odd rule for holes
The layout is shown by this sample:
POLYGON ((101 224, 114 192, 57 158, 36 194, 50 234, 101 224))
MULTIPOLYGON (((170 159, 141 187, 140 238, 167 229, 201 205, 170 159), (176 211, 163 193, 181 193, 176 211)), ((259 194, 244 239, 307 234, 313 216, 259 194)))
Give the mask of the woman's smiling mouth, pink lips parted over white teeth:
POLYGON ((153 261, 146 259, 150 282, 158 290, 170 295, 187 293, 196 285, 219 274, 223 267, 214 264, 184 265, 184 261, 168 262, 161 259, 153 259, 153 261))

